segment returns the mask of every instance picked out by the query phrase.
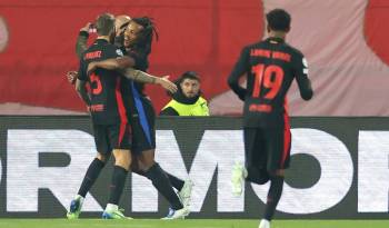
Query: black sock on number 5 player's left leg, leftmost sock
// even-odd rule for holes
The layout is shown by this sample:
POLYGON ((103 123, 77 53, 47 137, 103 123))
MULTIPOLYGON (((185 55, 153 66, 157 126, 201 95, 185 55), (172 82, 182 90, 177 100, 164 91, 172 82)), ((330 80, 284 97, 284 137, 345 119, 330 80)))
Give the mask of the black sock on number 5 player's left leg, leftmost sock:
POLYGON ((80 189, 78 190, 78 195, 83 198, 87 196, 87 192, 93 186, 96 179, 99 177, 102 168, 104 168, 106 163, 101 160, 94 158, 94 160, 89 165, 86 176, 83 177, 80 189))

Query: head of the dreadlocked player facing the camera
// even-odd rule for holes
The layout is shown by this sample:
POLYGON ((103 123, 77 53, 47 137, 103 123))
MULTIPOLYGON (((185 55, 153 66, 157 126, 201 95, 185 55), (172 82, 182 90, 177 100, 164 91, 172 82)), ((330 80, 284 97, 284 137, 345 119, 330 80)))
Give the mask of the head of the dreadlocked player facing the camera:
POLYGON ((124 46, 141 48, 146 53, 151 52, 151 42, 158 32, 151 18, 132 18, 124 32, 124 46))

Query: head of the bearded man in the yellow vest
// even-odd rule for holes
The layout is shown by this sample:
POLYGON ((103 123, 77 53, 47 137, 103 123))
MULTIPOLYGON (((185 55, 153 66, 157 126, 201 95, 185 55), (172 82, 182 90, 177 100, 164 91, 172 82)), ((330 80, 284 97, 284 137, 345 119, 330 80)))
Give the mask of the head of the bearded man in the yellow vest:
POLYGON ((194 98, 200 93, 200 77, 194 71, 187 71, 178 80, 182 95, 194 98))

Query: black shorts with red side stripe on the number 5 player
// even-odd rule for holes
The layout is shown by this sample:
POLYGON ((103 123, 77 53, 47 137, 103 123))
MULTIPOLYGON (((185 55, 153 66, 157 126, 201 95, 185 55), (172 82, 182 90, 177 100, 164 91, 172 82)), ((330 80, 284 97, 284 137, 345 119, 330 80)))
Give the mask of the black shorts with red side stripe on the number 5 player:
POLYGON ((113 149, 131 149, 131 127, 128 123, 93 125, 97 151, 109 155, 113 149))

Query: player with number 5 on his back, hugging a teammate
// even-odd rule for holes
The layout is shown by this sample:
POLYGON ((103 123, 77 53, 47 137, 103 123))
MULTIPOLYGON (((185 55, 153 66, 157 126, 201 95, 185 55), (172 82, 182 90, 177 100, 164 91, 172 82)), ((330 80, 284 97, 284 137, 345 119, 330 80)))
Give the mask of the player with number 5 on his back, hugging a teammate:
MULTIPOLYGON (((113 24, 112 14, 102 13, 98 17, 96 22, 98 38, 83 52, 80 60, 76 88, 91 113, 98 155, 89 166, 77 197, 71 201, 67 215, 69 219, 78 218, 87 192, 94 184, 111 152, 116 161, 110 185, 110 198, 102 217, 126 218, 119 210, 118 202, 131 163, 131 131, 123 98, 118 89, 121 87, 122 77, 117 71, 104 69, 87 73, 88 65, 91 61, 123 56, 120 49, 110 44, 114 32, 113 24), (90 93, 86 89, 87 81, 90 85, 90 93)), ((119 65, 119 68, 126 68, 129 62, 121 60, 119 65)))

